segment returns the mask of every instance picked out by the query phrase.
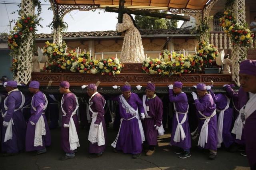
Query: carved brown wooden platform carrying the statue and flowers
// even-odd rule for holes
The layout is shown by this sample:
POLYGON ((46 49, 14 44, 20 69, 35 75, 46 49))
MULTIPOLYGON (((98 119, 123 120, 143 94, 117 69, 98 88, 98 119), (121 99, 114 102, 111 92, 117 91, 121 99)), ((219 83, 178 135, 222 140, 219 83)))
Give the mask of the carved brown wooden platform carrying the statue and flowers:
POLYGON ((40 85, 48 85, 48 81, 52 80, 52 86, 58 86, 61 81, 68 81, 71 86, 87 85, 89 83, 96 83, 101 81, 101 87, 111 87, 113 85, 124 85, 128 81, 132 86, 145 86, 148 81, 155 83, 156 86, 166 87, 174 83, 174 81, 181 81, 184 86, 192 86, 197 83, 211 84, 214 81, 215 86, 222 86, 224 84, 231 84, 231 74, 182 74, 182 76, 172 75, 162 76, 149 75, 142 73, 141 63, 124 63, 124 69, 119 75, 109 76, 101 75, 100 73, 32 73, 32 80, 37 80, 40 85))

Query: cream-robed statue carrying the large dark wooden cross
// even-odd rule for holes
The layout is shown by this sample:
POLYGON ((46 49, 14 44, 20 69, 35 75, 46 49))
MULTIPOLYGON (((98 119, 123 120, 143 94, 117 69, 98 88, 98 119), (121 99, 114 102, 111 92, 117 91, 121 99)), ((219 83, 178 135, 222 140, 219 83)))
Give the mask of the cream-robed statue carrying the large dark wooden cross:
POLYGON ((124 32, 120 60, 124 63, 142 63, 145 59, 140 32, 129 14, 123 15, 123 22, 116 24, 117 32, 124 32))

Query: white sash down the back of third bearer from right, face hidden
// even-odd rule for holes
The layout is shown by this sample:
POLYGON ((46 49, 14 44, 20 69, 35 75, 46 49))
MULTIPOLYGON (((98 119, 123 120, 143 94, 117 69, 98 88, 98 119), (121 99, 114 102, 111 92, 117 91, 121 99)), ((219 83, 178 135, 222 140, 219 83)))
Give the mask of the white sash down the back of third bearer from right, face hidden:
POLYGON ((220 148, 221 147, 221 143, 223 141, 223 138, 222 138, 222 131, 223 131, 223 119, 224 119, 224 112, 228 109, 229 107, 229 104, 230 104, 230 99, 225 95, 226 99, 227 99, 227 105, 226 107, 221 110, 221 111, 217 111, 220 113, 219 114, 219 117, 218 117, 218 122, 217 122, 217 128, 218 128, 218 144, 217 144, 217 148, 220 148))

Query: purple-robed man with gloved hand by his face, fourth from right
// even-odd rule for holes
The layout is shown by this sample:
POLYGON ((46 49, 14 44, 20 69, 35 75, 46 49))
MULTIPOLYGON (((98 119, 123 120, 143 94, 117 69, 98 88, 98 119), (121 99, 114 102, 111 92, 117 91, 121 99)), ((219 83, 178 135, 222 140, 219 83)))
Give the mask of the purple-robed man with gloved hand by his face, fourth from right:
POLYGON ((192 92, 198 113, 199 123, 198 132, 200 132, 198 146, 210 151, 210 159, 217 157, 217 115, 216 105, 212 96, 207 93, 206 85, 199 83, 196 85, 196 92, 192 92))

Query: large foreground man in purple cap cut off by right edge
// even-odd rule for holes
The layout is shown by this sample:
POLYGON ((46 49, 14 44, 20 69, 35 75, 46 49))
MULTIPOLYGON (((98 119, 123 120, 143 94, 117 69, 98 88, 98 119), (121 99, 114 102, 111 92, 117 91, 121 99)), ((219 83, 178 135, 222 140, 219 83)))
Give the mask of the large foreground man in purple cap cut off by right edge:
POLYGON ((256 170, 256 60, 245 60, 240 63, 239 81, 249 96, 240 113, 244 124, 246 154, 251 170, 256 170))

